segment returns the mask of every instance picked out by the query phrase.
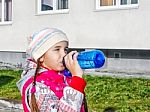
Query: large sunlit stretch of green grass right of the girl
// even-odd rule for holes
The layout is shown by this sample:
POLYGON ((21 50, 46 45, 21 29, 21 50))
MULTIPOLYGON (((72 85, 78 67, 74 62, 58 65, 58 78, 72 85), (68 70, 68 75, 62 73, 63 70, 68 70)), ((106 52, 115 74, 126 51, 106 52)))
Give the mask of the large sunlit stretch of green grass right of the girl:
POLYGON ((102 112, 150 112, 150 79, 85 76, 89 109, 102 112))

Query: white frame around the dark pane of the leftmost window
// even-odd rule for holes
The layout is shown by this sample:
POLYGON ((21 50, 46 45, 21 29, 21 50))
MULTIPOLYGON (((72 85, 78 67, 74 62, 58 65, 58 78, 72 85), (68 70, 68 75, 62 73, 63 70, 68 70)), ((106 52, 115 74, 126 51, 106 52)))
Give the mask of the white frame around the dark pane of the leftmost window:
POLYGON ((2 10, 0 10, 1 11, 1 21, 0 21, 0 25, 9 25, 9 24, 12 24, 12 20, 13 20, 13 0, 11 0, 11 2, 12 2, 12 6, 11 6, 11 20, 10 21, 5 21, 5 13, 4 13, 4 11, 5 11, 5 0, 1 0, 2 2, 2 10))

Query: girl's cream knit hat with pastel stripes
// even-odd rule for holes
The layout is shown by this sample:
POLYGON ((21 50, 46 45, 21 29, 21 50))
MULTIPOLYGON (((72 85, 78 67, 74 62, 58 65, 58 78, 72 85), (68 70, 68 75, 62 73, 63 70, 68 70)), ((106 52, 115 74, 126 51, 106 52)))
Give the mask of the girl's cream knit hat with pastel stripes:
POLYGON ((26 52, 37 61, 49 48, 61 41, 68 42, 64 32, 56 28, 45 28, 30 36, 26 52))

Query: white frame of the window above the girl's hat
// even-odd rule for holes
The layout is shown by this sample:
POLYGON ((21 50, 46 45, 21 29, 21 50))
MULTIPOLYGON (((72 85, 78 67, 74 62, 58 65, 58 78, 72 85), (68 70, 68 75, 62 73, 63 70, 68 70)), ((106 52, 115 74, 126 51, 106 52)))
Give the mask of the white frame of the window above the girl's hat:
MULTIPOLYGON (((41 0, 37 0, 37 13, 36 13, 36 15, 69 13, 69 8, 57 10, 56 5, 55 5, 56 2, 57 2, 56 0, 53 1, 53 10, 41 11, 41 0)), ((69 7, 69 2, 68 2, 68 7, 69 7)))

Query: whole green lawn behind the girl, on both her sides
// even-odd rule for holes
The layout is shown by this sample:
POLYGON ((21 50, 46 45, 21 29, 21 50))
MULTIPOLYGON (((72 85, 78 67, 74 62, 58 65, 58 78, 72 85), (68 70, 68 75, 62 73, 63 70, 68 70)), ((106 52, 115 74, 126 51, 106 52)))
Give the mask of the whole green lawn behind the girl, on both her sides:
MULTIPOLYGON (((0 70, 0 97, 20 100, 16 82, 21 71, 0 70)), ((150 79, 84 76, 90 112, 107 107, 117 112, 150 112, 150 79)))

